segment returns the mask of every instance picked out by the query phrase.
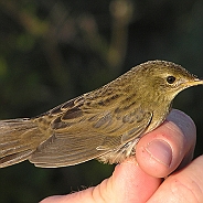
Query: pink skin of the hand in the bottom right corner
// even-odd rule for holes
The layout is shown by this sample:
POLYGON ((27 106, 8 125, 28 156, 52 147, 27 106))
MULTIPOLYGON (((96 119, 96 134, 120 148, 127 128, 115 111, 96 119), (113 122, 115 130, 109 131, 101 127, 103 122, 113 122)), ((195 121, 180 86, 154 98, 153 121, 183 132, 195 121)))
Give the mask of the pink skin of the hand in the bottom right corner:
POLYGON ((203 156, 184 169, 170 175, 148 203, 199 203, 203 202, 203 156), (164 200, 164 201, 163 201, 164 200))

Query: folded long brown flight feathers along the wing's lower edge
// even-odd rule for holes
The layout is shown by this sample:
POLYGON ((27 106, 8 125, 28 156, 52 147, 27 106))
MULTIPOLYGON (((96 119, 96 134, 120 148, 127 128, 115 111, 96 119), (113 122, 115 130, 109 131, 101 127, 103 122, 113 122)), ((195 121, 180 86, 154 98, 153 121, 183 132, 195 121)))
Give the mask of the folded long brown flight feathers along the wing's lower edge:
POLYGON ((36 167, 66 167, 94 159, 105 151, 96 149, 103 142, 104 136, 79 136, 56 133, 39 146, 29 159, 36 167), (92 145, 89 145, 92 143, 92 145))

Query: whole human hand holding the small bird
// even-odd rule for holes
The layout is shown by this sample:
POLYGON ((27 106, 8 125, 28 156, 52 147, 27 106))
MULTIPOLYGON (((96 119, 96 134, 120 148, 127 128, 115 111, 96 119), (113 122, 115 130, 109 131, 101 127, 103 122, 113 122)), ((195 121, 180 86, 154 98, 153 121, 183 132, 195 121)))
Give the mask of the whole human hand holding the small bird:
POLYGON ((96 186, 41 203, 200 203, 203 202, 203 157, 195 160, 195 125, 173 109, 156 130, 143 136, 136 157, 115 167, 96 186), (163 179, 164 178, 164 179, 163 179))

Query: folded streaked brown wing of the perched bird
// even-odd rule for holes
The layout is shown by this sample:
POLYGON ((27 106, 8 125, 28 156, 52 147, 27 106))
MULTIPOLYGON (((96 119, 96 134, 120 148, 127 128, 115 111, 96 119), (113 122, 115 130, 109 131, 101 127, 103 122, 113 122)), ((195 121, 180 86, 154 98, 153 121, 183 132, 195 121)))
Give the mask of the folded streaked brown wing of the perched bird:
MULTIPOLYGON (((81 96, 50 110, 44 119, 51 120, 51 137, 29 160, 36 167, 73 165, 138 138, 149 126, 152 114, 140 106, 127 111, 121 106, 115 109, 116 103, 98 105, 81 96)), ((42 118, 40 124, 44 124, 42 118)))

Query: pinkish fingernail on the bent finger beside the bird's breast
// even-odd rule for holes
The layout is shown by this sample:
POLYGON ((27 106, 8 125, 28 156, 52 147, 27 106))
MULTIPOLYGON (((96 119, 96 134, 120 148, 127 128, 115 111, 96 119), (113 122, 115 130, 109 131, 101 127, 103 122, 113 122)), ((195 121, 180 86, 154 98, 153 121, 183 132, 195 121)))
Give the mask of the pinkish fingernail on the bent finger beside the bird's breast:
POLYGON ((172 161, 172 149, 169 143, 163 140, 157 139, 151 141, 146 148, 146 150, 157 161, 163 163, 167 167, 170 167, 172 161))

